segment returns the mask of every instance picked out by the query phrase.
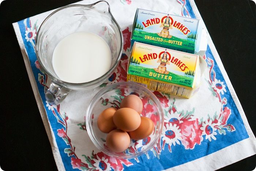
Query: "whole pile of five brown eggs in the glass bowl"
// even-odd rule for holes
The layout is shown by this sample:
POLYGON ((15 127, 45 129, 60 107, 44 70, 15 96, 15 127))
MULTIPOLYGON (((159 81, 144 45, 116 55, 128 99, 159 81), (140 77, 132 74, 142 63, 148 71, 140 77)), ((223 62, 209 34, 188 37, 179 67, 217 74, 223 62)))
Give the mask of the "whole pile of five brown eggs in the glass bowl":
POLYGON ((126 96, 120 109, 107 108, 98 117, 98 128, 108 133, 106 144, 113 152, 123 152, 129 147, 130 139, 141 140, 151 135, 154 123, 150 118, 141 117, 142 100, 136 95, 126 96))

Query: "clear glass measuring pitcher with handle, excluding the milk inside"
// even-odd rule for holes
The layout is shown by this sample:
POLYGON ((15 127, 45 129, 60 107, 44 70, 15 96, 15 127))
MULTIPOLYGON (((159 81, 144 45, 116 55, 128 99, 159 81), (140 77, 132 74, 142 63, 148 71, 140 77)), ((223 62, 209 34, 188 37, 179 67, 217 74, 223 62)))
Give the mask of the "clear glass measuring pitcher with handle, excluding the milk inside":
POLYGON ((45 94, 46 100, 50 104, 57 105, 64 100, 70 90, 86 90, 99 86, 116 69, 122 49, 123 35, 110 12, 108 2, 102 0, 89 5, 67 5, 51 13, 41 24, 35 40, 35 53, 40 70, 52 81, 45 94), (78 31, 92 32, 106 41, 111 51, 111 66, 102 77, 93 81, 65 82, 53 69, 52 54, 61 39, 78 31))

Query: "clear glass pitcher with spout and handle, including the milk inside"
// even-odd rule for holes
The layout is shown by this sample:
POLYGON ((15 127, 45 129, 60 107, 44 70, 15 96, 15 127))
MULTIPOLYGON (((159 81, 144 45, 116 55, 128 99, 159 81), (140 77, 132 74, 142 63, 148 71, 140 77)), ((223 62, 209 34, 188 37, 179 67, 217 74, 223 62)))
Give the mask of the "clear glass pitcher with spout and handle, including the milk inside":
POLYGON ((40 70, 52 81, 46 100, 57 105, 70 90, 99 86, 116 69, 122 49, 123 35, 108 2, 67 5, 51 13, 35 40, 40 70))

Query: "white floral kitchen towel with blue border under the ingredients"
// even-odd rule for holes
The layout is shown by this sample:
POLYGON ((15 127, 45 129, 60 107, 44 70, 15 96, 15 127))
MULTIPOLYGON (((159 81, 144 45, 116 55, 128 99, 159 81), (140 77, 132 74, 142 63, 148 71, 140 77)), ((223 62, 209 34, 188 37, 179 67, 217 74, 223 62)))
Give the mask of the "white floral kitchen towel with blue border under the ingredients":
MULTIPOLYGON (((77 4, 94 2, 95 0, 84 0, 77 4)), ((154 148, 135 159, 117 159, 105 155, 93 145, 86 131, 86 109, 102 87, 126 80, 136 8, 202 19, 193 0, 108 2, 114 18, 123 30, 124 49, 121 61, 112 76, 101 86, 90 91, 72 91, 57 106, 49 105, 45 100, 49 79, 40 72, 35 55, 38 28, 52 11, 13 24, 58 169, 216 170, 254 155, 255 136, 209 35, 207 51, 203 57, 207 62, 207 69, 197 94, 184 99, 154 92, 165 113, 162 136, 154 148)), ((109 36, 107 28, 102 27, 101 34, 109 36)), ((113 99, 105 99, 102 105, 111 106, 113 102, 113 99)), ((150 110, 151 106, 147 104, 144 108, 150 110)), ((154 115, 151 119, 154 120, 154 115)), ((144 139, 143 143, 149 141, 150 139, 144 139)), ((138 148, 131 147, 128 152, 136 150, 138 148)))

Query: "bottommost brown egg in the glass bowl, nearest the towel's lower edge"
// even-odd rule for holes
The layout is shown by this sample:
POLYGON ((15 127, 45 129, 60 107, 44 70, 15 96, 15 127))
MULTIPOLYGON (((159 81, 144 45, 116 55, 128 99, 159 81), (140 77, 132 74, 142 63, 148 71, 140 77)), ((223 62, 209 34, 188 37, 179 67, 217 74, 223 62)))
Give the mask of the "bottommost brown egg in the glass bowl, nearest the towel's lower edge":
POLYGON ((106 138, 108 148, 113 152, 123 152, 130 145, 130 137, 127 132, 114 129, 109 132, 106 138))

